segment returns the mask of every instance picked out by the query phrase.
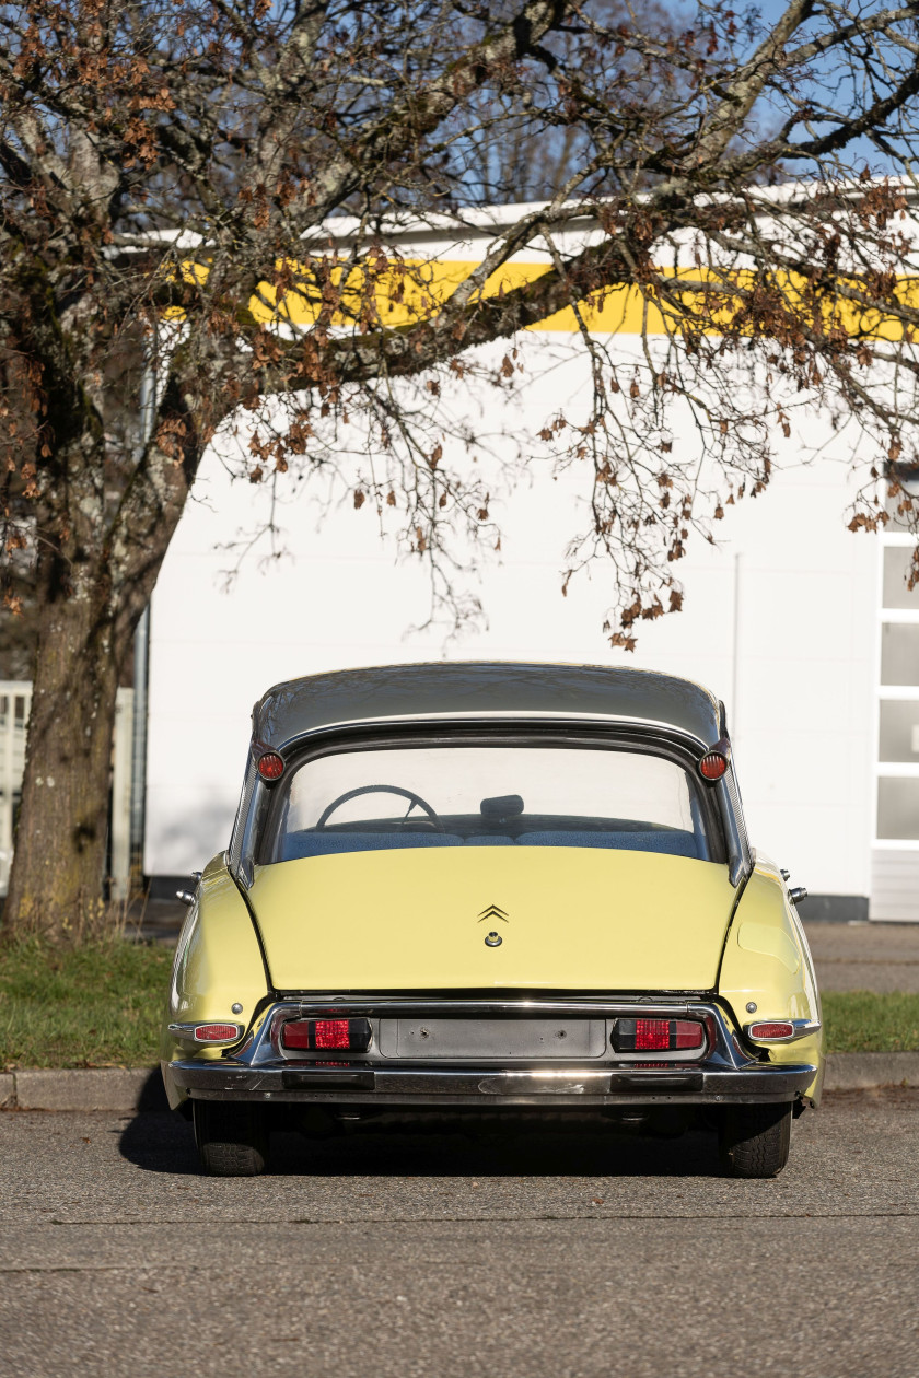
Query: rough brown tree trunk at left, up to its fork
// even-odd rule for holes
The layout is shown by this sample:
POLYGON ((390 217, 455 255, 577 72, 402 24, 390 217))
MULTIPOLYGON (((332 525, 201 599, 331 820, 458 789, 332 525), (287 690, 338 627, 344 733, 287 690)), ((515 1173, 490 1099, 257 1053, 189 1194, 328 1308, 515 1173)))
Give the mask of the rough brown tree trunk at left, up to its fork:
MULTIPOLYGON (((193 382, 169 376, 154 434, 112 503, 98 415, 50 408, 63 437, 41 514, 39 626, 19 824, 0 937, 109 932, 103 900, 118 671, 203 446, 193 382)), ((212 409, 212 408, 211 408, 212 409)), ((51 470, 51 466, 48 466, 51 470)))

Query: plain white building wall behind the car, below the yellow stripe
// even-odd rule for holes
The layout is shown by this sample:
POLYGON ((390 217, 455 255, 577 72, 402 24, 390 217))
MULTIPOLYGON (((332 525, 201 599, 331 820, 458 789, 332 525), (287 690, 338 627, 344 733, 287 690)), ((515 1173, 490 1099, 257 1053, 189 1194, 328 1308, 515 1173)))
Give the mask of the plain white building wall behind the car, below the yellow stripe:
MULTIPOLYGON (((584 380, 572 362, 535 382, 521 397, 524 422, 537 429, 553 407, 576 405, 584 380)), ((481 404, 486 429, 508 405, 485 391, 481 404)), ((769 491, 727 508, 721 544, 690 543, 677 570, 685 610, 641 623, 634 655, 601 631, 610 601, 601 568, 561 597, 579 511, 570 485, 544 467, 503 510, 492 500, 503 543, 479 568, 488 628, 444 646, 442 628, 406 637, 427 616, 426 576, 380 542, 371 503, 322 517, 309 493, 289 503, 288 555, 265 565, 256 551, 225 591, 234 557, 218 547, 258 525, 267 493, 230 482, 211 456, 153 598, 146 871, 187 872, 226 845, 249 712, 276 681, 442 656, 575 660, 667 670, 714 689, 727 706, 754 845, 812 893, 867 896, 878 550, 845 528, 845 456, 796 467, 802 448, 828 434, 807 424, 781 442, 778 464, 789 467, 769 491)))

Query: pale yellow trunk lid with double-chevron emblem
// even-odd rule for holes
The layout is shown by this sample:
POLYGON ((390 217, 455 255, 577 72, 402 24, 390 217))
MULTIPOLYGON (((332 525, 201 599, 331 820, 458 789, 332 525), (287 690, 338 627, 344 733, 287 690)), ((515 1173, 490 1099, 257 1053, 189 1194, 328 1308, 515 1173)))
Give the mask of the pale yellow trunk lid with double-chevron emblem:
POLYGON ((716 863, 551 846, 307 857, 251 889, 276 988, 336 992, 711 991, 733 900, 716 863))

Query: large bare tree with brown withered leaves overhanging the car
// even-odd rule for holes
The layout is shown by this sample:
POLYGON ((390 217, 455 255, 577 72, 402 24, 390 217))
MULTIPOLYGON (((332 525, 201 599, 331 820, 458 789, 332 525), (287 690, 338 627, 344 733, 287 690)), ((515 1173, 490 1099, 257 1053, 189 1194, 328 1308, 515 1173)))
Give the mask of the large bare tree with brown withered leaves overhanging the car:
POLYGON ((7 933, 66 934, 98 904, 118 667, 201 455, 238 418, 258 481, 344 463, 335 429, 360 416, 373 469, 353 480, 355 503, 398 507, 430 555, 457 524, 491 521, 431 438, 438 400, 477 346, 507 340, 497 372, 513 375, 514 336, 573 309, 592 407, 541 433, 583 467, 592 518, 570 569, 613 562, 609 633, 626 645, 637 619, 679 606, 690 532, 711 535, 723 503, 767 484, 788 384, 871 440, 853 521, 883 520, 872 463, 894 466, 909 517, 896 466, 916 455, 919 303, 900 216, 919 0, 792 0, 769 23, 721 0, 681 12, 0 8, 6 546, 29 554, 39 608, 7 933), (471 205, 526 189, 507 150, 539 147, 555 150, 533 183, 544 203, 497 229, 449 294, 387 247, 393 218, 446 216, 459 232, 471 205), (347 234, 331 233, 343 214, 347 234), (598 230, 579 237, 584 218, 598 230), (495 289, 528 247, 547 270, 495 289), (617 291, 646 324, 627 373, 588 328, 617 291), (157 340, 156 418, 136 446, 112 416, 136 411, 141 353, 157 340), (696 429, 692 455, 674 449, 675 409, 696 429))

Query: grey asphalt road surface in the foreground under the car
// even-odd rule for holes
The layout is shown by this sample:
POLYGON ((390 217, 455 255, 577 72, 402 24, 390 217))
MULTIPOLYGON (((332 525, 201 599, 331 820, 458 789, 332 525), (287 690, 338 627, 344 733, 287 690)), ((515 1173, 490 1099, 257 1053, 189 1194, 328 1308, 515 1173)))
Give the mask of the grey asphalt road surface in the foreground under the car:
POLYGON ((916 1378, 919 1091, 838 1093, 776 1181, 714 1140, 280 1137, 0 1115, 0 1372, 916 1378))

